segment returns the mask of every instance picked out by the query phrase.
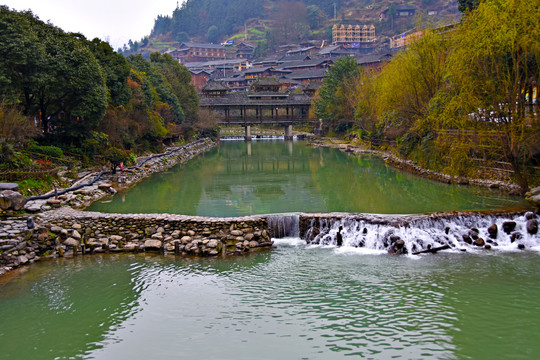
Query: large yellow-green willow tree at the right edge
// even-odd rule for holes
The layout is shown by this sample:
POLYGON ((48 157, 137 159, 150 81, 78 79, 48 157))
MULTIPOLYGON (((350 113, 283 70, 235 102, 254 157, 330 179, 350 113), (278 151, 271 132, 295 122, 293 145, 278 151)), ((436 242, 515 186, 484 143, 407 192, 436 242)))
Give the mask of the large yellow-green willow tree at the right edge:
POLYGON ((538 0, 481 1, 455 32, 448 62, 462 112, 496 134, 523 191, 540 141, 538 112, 527 109, 540 75, 538 19, 538 0))

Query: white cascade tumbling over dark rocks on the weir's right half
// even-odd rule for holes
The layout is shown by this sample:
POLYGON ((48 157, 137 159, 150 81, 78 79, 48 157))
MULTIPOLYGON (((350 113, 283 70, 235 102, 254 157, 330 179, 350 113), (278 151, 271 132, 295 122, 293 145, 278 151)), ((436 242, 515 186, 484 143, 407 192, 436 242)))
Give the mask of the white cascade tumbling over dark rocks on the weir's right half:
POLYGON ((303 215, 301 237, 308 244, 337 245, 397 254, 442 249, 540 248, 538 216, 525 214, 303 215))

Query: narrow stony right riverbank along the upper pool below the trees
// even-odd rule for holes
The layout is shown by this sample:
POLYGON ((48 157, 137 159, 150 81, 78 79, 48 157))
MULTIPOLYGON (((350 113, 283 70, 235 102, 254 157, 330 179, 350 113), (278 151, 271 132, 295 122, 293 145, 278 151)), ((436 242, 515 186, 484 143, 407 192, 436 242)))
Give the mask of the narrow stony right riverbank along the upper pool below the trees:
POLYGON ((455 185, 474 185, 490 189, 500 189, 509 195, 521 195, 521 189, 516 184, 487 179, 469 179, 461 176, 452 176, 437 171, 425 169, 414 164, 411 160, 402 159, 390 151, 367 149, 359 145, 351 145, 339 139, 322 139, 312 141, 315 147, 331 147, 351 154, 372 154, 380 156, 384 161, 395 168, 407 171, 411 174, 421 176, 430 180, 439 181, 455 185))

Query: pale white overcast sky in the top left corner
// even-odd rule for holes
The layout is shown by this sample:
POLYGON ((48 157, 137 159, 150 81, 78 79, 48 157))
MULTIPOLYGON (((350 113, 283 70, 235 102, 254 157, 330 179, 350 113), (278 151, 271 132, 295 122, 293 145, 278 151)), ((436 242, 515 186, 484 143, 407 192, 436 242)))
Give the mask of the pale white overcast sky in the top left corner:
MULTIPOLYGON (((184 0, 179 0, 180 5, 184 0)), ((116 50, 129 39, 140 40, 158 15, 172 15, 177 0, 0 0, 15 10, 32 10, 67 32, 109 40, 116 50)))

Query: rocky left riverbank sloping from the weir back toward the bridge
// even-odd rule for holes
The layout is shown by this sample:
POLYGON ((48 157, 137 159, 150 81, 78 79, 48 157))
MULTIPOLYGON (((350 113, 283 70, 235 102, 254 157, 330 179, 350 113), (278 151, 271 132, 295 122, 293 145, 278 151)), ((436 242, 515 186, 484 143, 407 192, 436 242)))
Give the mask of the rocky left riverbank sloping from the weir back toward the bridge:
MULTIPOLYGON (((63 252, 67 248, 59 247, 63 244, 58 243, 56 239, 59 235, 67 233, 67 230, 53 232, 52 225, 47 221, 43 222, 42 215, 63 207, 82 209, 94 201, 134 186, 156 172, 186 162, 216 145, 217 143, 210 139, 203 139, 181 147, 169 148, 163 154, 142 158, 138 161, 138 166, 118 171, 116 174, 81 173, 79 179, 71 184, 70 188, 57 189, 28 201, 24 205, 26 214, 13 216, 13 212, 6 212, 0 219, 0 275, 19 266, 33 263, 42 257, 64 256, 63 252)), ((70 234, 76 230, 69 229, 71 229, 70 234)), ((70 240, 69 244, 74 243, 70 240)), ((140 248, 140 245, 144 243, 137 245, 140 248)))

